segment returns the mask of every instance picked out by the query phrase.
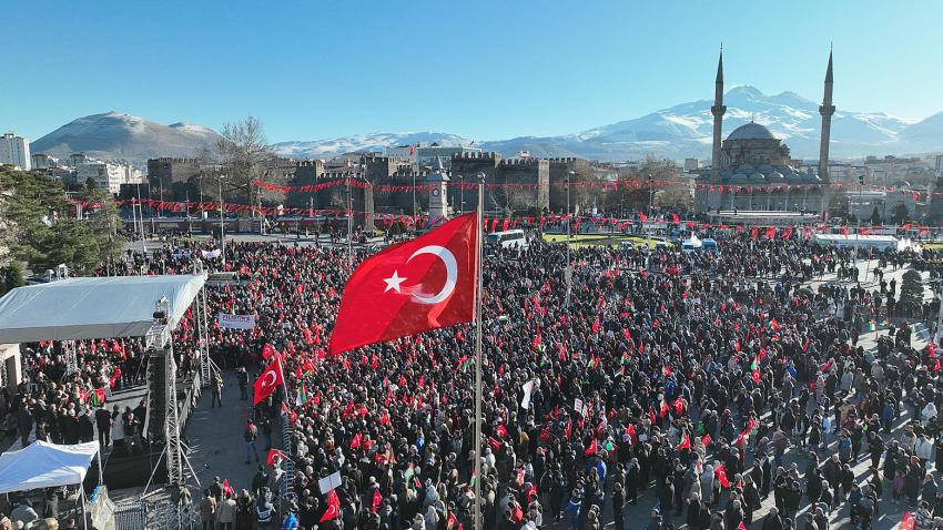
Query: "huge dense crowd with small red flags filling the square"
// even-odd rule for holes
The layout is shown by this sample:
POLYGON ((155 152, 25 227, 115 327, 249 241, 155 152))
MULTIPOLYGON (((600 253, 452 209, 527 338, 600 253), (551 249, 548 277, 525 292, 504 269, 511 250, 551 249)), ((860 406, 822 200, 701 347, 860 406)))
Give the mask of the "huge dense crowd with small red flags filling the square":
MULTIPOLYGON (((936 349, 916 349, 911 323, 896 318, 875 348, 859 344, 890 317, 899 287, 810 288, 853 257, 799 234, 719 241, 719 253, 650 258, 572 249, 569 283, 561 245, 489 249, 481 447, 470 326, 331 357, 346 248, 227 244, 225 266, 207 265, 239 282, 209 289, 211 314, 256 315, 256 328, 214 326, 211 356, 251 394, 274 349, 287 398, 274 394, 249 418, 246 459, 262 457, 252 482, 214 483, 193 502, 222 528, 470 529, 480 480, 486 529, 625 529, 639 503, 652 510, 632 528, 825 530, 838 512, 864 529, 888 499, 902 504, 895 517, 943 528, 936 349), (290 447, 272 439, 283 421, 290 447), (322 493, 333 473, 341 485, 322 493), (774 507, 761 508, 769 496, 774 507)), ((129 273, 189 273, 200 248, 169 242, 132 256, 129 273)), ((882 257, 872 266, 889 273, 934 259, 882 257)), ((190 329, 176 333, 180 366, 193 364, 190 329)), ((101 368, 82 365, 89 377, 101 368)), ((31 393, 21 389, 20 406, 31 393)))

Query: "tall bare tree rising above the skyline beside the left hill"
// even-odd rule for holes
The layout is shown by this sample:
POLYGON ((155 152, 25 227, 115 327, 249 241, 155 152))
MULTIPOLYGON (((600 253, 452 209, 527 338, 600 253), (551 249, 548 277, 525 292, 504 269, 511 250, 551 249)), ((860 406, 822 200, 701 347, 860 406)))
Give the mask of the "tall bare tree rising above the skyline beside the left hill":
POLYGON ((226 123, 216 140, 216 151, 225 190, 242 195, 252 204, 252 181, 258 179, 265 162, 273 159, 274 151, 265 137, 262 122, 257 118, 226 123))

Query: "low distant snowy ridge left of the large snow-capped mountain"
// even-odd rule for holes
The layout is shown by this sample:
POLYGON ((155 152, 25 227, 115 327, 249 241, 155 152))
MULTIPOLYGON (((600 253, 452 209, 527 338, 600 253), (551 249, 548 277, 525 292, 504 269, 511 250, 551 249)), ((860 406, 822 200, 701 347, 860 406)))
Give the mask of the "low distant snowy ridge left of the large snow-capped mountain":
POLYGON ((335 156, 343 153, 372 152, 383 153, 386 147, 397 145, 428 145, 438 143, 445 146, 468 145, 472 140, 455 134, 419 132, 419 133, 373 133, 357 134, 311 142, 281 142, 274 145, 275 152, 290 159, 318 159, 335 156))

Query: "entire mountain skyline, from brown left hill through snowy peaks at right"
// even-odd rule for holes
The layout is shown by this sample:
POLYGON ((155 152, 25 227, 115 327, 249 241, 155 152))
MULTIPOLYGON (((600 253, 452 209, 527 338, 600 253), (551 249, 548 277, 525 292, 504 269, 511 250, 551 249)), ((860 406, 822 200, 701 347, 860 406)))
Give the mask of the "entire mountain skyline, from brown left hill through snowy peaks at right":
MULTIPOLYGON (((924 120, 883 112, 839 109, 832 116, 831 155, 852 159, 869 154, 905 154, 943 151, 943 112, 924 120)), ((315 141, 274 144, 292 159, 323 159, 349 152, 383 152, 388 146, 474 145, 506 156, 528 151, 536 156, 581 156, 601 161, 638 160, 645 156, 681 160, 710 155, 712 116, 709 100, 681 103, 669 109, 561 136, 519 136, 480 141, 439 132, 379 132, 315 141)), ((817 159, 820 116, 815 102, 793 92, 768 95, 753 86, 738 86, 724 94, 724 137, 733 129, 756 121, 790 146, 793 157, 817 159)), ((161 125, 142 118, 105 113, 80 118, 30 145, 33 153, 68 156, 84 152, 101 159, 143 163, 154 156, 187 156, 210 146, 216 133, 201 125, 161 125)))

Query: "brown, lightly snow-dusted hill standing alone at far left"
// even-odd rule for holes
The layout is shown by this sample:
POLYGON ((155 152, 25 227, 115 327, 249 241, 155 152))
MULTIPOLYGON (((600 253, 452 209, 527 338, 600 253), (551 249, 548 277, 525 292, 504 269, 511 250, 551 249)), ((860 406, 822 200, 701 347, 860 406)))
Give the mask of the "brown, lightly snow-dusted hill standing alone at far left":
POLYGON ((162 125, 118 112, 79 118, 30 144, 33 153, 64 157, 84 153, 102 160, 125 160, 142 165, 158 156, 193 156, 210 147, 219 135, 190 123, 162 125))

